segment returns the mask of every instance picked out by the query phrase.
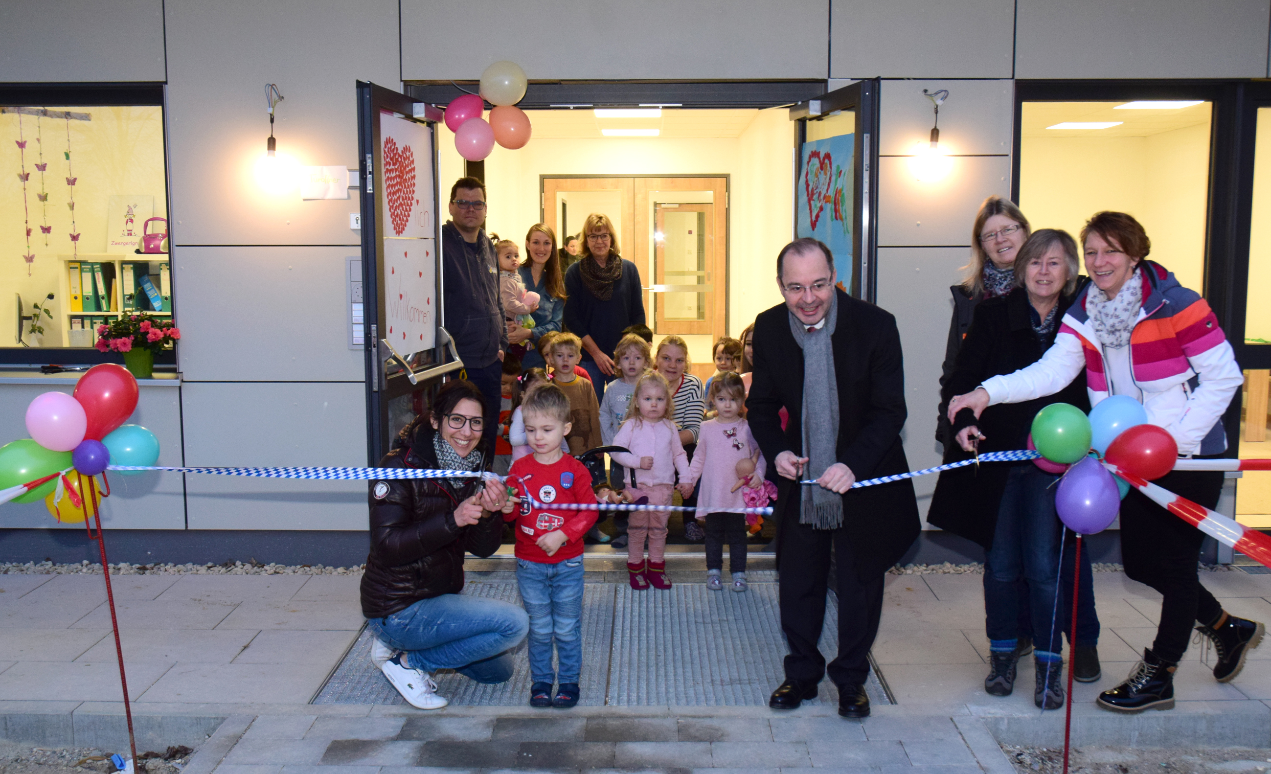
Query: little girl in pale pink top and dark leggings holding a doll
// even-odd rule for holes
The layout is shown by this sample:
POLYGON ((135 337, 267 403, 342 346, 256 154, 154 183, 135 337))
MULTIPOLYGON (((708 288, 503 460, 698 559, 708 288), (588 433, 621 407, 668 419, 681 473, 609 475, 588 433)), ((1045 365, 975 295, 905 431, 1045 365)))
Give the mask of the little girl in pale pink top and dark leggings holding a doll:
MULTIPOLYGON (((707 527, 707 588, 719 591, 723 572, 723 544, 728 541, 728 572, 732 573, 732 590, 745 591, 746 586, 746 515, 721 513, 721 508, 745 508, 747 489, 764 489, 765 463, 759 451, 750 424, 741 416, 746 400, 746 386, 741 376, 732 371, 716 375, 707 395, 707 405, 716 411, 714 419, 702 423, 698 435, 698 450, 693 454, 689 475, 681 482, 690 489, 702 480, 698 492, 699 521, 707 527), (737 464, 750 460, 754 470, 741 474, 737 464)), ((771 487, 771 484, 766 484, 771 487)), ((754 496, 751 496, 754 498, 754 496)))

